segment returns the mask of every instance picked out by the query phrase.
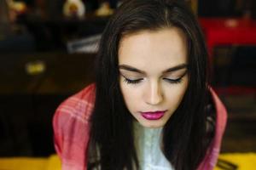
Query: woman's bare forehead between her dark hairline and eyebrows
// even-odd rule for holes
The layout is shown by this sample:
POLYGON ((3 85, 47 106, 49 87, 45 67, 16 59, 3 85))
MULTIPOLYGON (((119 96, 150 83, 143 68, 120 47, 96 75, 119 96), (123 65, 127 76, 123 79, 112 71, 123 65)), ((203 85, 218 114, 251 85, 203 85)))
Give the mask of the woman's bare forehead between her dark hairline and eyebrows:
POLYGON ((176 27, 139 31, 119 43, 119 65, 131 65, 147 72, 187 63, 187 41, 176 27))

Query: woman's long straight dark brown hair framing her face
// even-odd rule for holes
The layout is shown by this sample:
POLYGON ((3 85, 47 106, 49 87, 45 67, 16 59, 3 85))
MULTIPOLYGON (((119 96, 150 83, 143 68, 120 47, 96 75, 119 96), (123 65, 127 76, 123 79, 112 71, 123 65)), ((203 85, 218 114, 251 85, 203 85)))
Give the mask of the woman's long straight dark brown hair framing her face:
POLYGON ((133 118, 119 88, 120 39, 138 31, 168 27, 181 29, 187 37, 189 86, 163 128, 163 153, 176 170, 196 169, 206 154, 207 49, 194 14, 183 1, 128 0, 108 21, 97 54, 89 147, 97 148, 94 152, 102 170, 138 168, 133 118))

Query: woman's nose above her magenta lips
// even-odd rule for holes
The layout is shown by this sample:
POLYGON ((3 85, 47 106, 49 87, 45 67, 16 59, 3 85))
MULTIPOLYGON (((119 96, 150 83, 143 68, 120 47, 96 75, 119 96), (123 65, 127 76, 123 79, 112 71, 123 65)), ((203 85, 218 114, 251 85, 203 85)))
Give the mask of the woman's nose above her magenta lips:
POLYGON ((151 83, 145 93, 145 100, 148 105, 159 105, 163 100, 162 90, 158 82, 151 83))

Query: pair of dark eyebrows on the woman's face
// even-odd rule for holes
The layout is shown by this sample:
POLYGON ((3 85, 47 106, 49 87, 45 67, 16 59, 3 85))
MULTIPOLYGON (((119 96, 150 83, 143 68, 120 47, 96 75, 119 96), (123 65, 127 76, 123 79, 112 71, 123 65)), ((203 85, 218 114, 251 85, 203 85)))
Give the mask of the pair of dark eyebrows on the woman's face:
MULTIPOLYGON (((176 65, 173 66, 171 68, 166 69, 165 71, 163 71, 163 74, 169 73, 169 72, 173 72, 173 71, 178 71, 178 70, 182 70, 188 67, 188 64, 181 64, 181 65, 176 65)), ((119 65, 119 69, 125 70, 125 71, 132 71, 132 72, 137 72, 143 75, 146 75, 145 71, 141 71, 135 67, 132 67, 131 65, 119 65)))

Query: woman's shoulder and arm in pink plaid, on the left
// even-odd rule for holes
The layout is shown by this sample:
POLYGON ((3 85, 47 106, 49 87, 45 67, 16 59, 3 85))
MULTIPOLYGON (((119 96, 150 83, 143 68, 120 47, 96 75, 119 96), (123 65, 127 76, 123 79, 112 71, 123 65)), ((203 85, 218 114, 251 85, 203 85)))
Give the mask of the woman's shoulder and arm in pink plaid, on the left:
POLYGON ((55 111, 53 130, 55 150, 62 169, 84 170, 90 138, 90 115, 95 102, 95 84, 66 99, 55 111))

